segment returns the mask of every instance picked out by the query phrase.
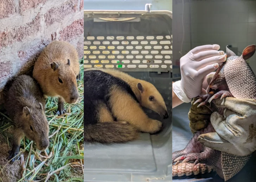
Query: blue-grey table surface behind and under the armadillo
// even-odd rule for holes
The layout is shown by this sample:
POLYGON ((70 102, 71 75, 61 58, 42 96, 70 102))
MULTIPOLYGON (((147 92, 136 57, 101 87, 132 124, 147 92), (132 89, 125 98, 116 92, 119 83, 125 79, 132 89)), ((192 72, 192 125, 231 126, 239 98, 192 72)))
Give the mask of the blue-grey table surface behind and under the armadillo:
MULTIPOLYGON (((172 152, 184 149, 192 138, 192 133, 189 128, 188 111, 191 103, 184 103, 175 107, 172 111, 172 152)), ((227 182, 255 182, 256 181, 256 153, 248 161, 245 167, 227 182)), ((193 176, 190 179, 173 179, 173 182, 224 182, 216 173, 199 175, 196 178, 193 176)))

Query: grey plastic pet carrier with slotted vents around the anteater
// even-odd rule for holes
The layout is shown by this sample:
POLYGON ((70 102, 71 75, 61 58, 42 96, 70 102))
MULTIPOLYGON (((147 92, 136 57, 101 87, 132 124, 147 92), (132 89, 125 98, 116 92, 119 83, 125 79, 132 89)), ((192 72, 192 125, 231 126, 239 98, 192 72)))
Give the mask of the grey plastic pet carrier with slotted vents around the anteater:
POLYGON ((164 123, 159 134, 141 133, 126 144, 84 143, 84 181, 172 181, 172 12, 148 4, 145 10, 84 10, 88 68, 114 68, 152 83, 169 118, 145 109, 164 123))

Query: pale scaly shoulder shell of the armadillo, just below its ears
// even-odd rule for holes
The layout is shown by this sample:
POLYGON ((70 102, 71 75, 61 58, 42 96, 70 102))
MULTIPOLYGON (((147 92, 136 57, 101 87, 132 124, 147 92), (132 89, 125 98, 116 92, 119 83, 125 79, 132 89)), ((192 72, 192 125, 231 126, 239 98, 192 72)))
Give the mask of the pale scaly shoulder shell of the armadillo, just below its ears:
POLYGON ((232 95, 238 99, 256 99, 256 76, 249 64, 239 56, 228 59, 224 73, 232 95))

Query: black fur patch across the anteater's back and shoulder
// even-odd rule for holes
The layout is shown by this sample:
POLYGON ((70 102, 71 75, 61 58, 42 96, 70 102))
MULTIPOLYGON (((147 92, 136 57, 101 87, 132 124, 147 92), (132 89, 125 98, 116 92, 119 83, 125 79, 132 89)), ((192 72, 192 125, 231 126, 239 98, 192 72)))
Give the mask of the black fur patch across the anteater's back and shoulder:
POLYGON ((98 104, 109 105, 109 93, 114 85, 139 102, 130 85, 124 80, 100 70, 84 71, 84 126, 97 123, 98 104))

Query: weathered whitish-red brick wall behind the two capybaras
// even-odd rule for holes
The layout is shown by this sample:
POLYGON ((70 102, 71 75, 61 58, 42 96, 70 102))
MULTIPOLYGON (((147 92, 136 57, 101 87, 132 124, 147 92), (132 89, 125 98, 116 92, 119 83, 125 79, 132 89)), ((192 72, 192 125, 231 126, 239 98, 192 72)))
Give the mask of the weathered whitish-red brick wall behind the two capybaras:
POLYGON ((0 12, 0 92, 9 77, 31 72, 53 40, 70 42, 83 57, 83 0, 4 0, 0 12))

